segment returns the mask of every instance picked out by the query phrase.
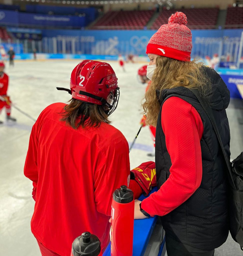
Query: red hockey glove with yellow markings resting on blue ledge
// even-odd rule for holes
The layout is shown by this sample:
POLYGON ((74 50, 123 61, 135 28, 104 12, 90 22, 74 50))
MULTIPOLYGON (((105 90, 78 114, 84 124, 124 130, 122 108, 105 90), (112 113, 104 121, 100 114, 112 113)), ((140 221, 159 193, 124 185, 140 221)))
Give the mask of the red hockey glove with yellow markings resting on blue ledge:
POLYGON ((156 186, 155 162, 142 163, 139 167, 132 169, 130 174, 131 179, 140 185, 145 196, 149 194, 152 187, 156 186))

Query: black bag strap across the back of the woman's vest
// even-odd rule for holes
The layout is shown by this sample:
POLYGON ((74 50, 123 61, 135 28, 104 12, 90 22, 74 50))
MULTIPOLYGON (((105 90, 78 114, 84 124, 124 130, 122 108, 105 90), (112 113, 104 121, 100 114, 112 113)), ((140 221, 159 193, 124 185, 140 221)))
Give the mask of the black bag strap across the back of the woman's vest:
POLYGON ((235 186, 235 183, 234 183, 234 179, 233 179, 233 176, 232 176, 232 169, 230 167, 231 163, 230 163, 230 160, 228 159, 227 155, 226 155, 226 152, 224 150, 224 146, 223 146, 223 143, 222 143, 222 140, 221 140, 221 137, 220 137, 220 134, 219 134, 219 131, 218 131, 218 127, 217 127, 217 124, 215 122, 215 118, 214 118, 214 115, 213 115, 213 112, 212 112, 212 109, 210 108, 209 106, 209 103, 207 102, 207 100, 205 100, 202 95, 200 95, 200 93, 196 90, 196 89, 189 89, 198 99, 199 103, 202 105, 204 111, 206 112, 209 120, 211 121, 212 125, 213 125, 213 128, 214 128, 214 131, 216 133, 216 136, 218 138, 218 142, 219 142, 219 145, 221 147, 221 150, 223 152, 223 155, 224 155, 224 159, 225 159, 225 162, 226 162, 226 165, 227 165, 227 169, 228 169, 228 173, 229 173, 229 176, 230 176, 230 184, 231 186, 236 190, 236 186, 235 186))

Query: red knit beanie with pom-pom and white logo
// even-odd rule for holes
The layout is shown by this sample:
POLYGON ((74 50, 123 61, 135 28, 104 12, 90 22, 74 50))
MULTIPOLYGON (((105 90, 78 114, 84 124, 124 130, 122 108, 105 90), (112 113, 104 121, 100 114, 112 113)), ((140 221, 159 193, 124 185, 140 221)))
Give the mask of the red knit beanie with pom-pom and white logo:
POLYGON ((176 12, 150 38, 146 54, 157 54, 168 58, 190 61, 192 51, 192 33, 186 26, 187 18, 182 12, 176 12))

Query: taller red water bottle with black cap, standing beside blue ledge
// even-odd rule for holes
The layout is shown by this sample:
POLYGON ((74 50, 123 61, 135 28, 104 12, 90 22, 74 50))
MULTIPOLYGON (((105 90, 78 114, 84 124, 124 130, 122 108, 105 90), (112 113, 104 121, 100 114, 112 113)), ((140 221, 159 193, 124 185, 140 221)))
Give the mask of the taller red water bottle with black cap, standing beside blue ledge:
POLYGON ((133 192, 122 185, 114 191, 111 205, 112 256, 132 256, 133 224, 133 192))

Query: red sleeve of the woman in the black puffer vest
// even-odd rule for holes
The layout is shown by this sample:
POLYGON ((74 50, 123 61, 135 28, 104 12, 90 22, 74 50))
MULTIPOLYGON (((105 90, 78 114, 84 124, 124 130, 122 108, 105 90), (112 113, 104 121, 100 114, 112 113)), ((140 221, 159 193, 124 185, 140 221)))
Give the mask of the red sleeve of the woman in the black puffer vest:
POLYGON ((202 181, 203 123, 200 115, 191 104, 178 97, 165 101, 161 115, 172 166, 166 182, 142 202, 141 207, 151 216, 163 216, 174 210, 202 181))

